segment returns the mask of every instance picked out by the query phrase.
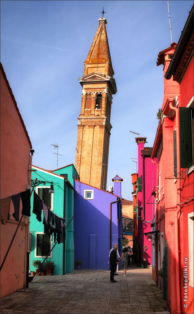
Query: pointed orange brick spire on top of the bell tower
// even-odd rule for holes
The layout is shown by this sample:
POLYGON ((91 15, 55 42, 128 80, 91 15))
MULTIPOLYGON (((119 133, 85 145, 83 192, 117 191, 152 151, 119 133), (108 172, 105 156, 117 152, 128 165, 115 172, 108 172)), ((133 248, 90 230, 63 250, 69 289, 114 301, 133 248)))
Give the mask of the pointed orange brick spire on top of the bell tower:
MULTIPOLYGON (((84 75, 88 74, 87 65, 91 64, 107 64, 105 67, 105 71, 103 72, 106 75, 113 76, 114 71, 112 67, 111 57, 110 57, 110 50, 108 46, 108 37, 106 32, 106 26, 107 20, 105 18, 98 19, 99 26, 96 32, 96 35, 94 36, 94 40, 91 44, 90 51, 87 55, 86 61, 84 62, 85 65, 85 71, 84 75)), ((100 70, 97 72, 102 73, 100 70)))

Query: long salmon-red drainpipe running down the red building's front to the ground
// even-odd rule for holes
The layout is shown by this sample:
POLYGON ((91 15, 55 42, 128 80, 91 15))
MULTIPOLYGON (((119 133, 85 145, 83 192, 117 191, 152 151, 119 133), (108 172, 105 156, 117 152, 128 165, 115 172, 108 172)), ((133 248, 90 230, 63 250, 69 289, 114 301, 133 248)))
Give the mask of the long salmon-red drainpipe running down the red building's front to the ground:
MULTIPOLYGON (((180 135, 179 135, 179 110, 173 107, 174 98, 169 98, 169 108, 175 111, 176 118, 176 160, 177 160, 177 173, 180 173, 180 135)), ((179 278, 179 233, 178 233, 178 214, 181 210, 181 185, 180 180, 177 180, 177 210, 175 212, 175 265, 176 265, 176 300, 177 300, 177 313, 180 311, 180 278, 179 278)))

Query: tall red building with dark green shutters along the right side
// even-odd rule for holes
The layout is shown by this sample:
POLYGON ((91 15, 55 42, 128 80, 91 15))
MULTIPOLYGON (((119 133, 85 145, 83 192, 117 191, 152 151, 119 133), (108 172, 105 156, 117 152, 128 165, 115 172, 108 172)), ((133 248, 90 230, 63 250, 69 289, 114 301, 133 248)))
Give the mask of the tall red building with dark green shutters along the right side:
POLYGON ((193 7, 178 44, 159 53, 161 64, 164 100, 151 156, 158 159, 155 279, 171 313, 193 313, 193 7))

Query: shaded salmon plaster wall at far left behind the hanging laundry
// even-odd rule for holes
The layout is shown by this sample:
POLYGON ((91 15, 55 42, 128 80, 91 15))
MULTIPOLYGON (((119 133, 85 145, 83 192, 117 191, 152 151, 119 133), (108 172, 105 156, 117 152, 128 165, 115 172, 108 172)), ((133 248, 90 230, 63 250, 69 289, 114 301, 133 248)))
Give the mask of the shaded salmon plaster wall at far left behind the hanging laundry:
MULTIPOLYGON (((26 137, 14 102, 1 72, 1 198, 10 193, 25 191, 28 184, 30 143, 26 137)), ((20 204, 20 217, 22 206, 20 204)), ((12 214, 10 221, 1 224, 1 263, 14 235, 18 222, 12 214)), ((21 223, 13 245, 1 270, 1 297, 6 296, 25 284, 25 245, 27 219, 21 223)))

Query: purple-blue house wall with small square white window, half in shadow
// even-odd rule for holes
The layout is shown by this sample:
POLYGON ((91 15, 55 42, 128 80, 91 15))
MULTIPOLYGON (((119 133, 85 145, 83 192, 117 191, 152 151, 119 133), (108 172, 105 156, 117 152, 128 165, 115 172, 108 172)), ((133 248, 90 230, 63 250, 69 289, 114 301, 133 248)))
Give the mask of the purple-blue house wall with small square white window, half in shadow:
MULTIPOLYGON (((74 187, 77 190, 77 181, 74 187)), ((82 182, 78 182, 78 191, 74 194, 75 261, 79 259, 83 269, 109 269, 110 203, 116 201, 117 196, 82 182), (93 199, 86 200, 84 190, 93 190, 93 199)), ((118 224, 115 203, 112 204, 111 247, 118 243, 120 233, 122 245, 122 219, 118 224)))

